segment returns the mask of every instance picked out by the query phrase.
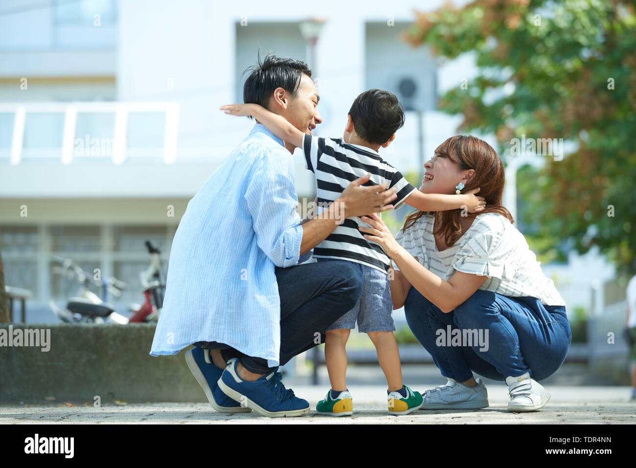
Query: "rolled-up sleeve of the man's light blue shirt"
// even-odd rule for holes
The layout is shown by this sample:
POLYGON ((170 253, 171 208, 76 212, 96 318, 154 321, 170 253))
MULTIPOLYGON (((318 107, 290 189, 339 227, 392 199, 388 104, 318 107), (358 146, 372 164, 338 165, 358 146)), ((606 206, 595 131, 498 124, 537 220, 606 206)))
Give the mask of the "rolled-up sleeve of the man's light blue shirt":
POLYGON ((274 265, 286 268, 298 263, 303 240, 293 166, 277 151, 261 151, 245 191, 245 202, 258 246, 274 265))

